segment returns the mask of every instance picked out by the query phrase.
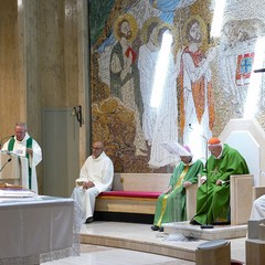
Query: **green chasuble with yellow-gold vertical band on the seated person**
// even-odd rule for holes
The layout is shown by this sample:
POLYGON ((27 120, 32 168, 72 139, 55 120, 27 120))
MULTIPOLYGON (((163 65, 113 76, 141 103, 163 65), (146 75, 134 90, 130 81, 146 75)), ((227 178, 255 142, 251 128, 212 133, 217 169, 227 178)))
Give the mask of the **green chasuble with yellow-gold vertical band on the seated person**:
POLYGON ((194 163, 184 165, 182 161, 174 168, 170 177, 169 187, 171 191, 162 193, 157 200, 153 224, 161 226, 162 223, 186 221, 186 188, 182 182, 198 182, 198 174, 201 173, 203 163, 197 160, 194 163))

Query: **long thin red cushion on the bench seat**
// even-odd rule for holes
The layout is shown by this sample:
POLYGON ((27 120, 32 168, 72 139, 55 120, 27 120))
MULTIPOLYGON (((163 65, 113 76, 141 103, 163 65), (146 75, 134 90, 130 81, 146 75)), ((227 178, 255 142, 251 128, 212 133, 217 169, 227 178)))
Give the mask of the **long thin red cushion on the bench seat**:
POLYGON ((131 198, 150 198, 157 199, 161 192, 149 191, 104 191, 98 197, 131 197, 131 198))

